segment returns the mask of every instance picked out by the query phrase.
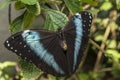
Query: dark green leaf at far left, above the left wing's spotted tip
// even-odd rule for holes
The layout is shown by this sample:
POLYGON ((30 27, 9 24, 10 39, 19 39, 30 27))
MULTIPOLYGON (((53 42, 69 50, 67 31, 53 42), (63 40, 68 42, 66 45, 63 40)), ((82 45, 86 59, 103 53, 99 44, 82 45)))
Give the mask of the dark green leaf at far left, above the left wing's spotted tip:
POLYGON ((12 21, 12 23, 10 24, 10 30, 11 32, 13 33, 16 33, 16 32, 19 32, 19 31, 22 31, 22 23, 23 23, 23 19, 24 19, 24 14, 23 13, 22 15, 18 16, 16 19, 14 19, 12 21))

